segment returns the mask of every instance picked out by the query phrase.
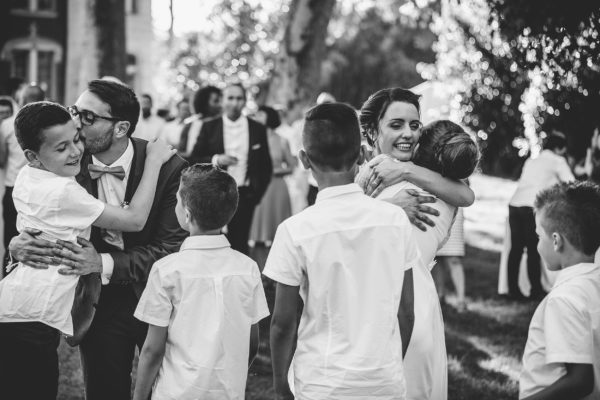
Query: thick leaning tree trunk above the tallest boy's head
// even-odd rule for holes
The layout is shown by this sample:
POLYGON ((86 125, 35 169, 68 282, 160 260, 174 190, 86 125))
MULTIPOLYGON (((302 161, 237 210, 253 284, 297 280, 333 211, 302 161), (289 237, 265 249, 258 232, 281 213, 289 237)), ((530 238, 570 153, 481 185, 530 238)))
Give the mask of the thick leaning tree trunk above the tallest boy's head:
POLYGON ((314 103, 335 0, 292 0, 269 90, 269 103, 314 103))

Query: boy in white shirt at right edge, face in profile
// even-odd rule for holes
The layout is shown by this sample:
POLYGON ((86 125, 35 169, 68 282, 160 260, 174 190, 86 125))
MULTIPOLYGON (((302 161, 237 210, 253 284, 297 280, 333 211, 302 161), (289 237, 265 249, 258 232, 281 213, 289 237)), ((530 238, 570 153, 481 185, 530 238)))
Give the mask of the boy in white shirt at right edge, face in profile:
POLYGON ((558 183, 535 209, 538 251, 559 272, 531 319, 519 398, 600 399, 600 187, 558 183))

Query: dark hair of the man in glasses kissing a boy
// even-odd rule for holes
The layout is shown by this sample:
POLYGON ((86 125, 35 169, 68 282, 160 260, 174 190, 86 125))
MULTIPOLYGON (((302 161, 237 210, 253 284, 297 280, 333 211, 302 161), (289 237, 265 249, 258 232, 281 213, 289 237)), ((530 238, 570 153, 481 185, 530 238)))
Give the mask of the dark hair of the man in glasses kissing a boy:
POLYGON ((140 117, 140 103, 129 86, 103 79, 88 83, 88 90, 110 106, 110 115, 129 122, 127 136, 135 131, 140 117))

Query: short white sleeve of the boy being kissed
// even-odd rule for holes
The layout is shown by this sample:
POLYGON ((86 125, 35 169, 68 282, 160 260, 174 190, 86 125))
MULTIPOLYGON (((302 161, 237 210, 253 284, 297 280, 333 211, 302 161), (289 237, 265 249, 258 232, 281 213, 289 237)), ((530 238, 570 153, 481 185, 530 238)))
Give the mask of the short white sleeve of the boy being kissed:
POLYGON ((53 225, 74 229, 87 229, 98 219, 106 204, 89 194, 74 180, 68 180, 61 189, 59 212, 53 225))

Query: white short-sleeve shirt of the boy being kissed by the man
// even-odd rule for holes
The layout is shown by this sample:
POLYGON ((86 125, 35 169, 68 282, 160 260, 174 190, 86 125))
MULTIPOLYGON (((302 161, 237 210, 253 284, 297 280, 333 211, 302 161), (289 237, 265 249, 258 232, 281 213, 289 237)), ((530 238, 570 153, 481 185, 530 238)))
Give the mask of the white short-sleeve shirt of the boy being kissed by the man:
MULTIPOLYGON (((27 165, 17 176, 13 200, 19 232, 39 229, 40 237, 50 241, 89 238, 92 223, 105 207, 74 177, 27 165)), ((19 264, 0 281, 0 322, 38 321, 72 335, 71 307, 79 278, 60 275, 62 267, 34 269, 19 264)))

